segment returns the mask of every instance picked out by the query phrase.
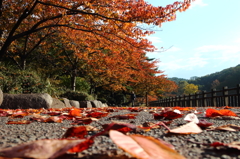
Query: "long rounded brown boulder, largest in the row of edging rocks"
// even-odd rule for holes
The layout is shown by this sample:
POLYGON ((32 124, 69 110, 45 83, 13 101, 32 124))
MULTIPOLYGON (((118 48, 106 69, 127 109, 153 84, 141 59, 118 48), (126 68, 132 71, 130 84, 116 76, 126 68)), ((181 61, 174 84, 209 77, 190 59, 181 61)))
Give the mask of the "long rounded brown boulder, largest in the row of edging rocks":
POLYGON ((47 94, 3 94, 2 109, 51 108, 52 97, 47 94))

